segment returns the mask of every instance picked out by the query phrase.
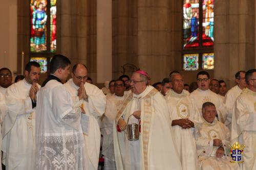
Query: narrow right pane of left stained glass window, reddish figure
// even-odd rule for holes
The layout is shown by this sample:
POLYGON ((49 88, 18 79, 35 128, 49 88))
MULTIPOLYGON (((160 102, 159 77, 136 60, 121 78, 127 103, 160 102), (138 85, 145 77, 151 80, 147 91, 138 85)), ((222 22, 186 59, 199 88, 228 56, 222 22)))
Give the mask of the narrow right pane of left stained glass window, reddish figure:
POLYGON ((56 8, 57 0, 51 0, 51 21, 50 21, 50 30, 51 30, 51 52, 56 52, 56 23, 57 23, 57 8, 56 8))

